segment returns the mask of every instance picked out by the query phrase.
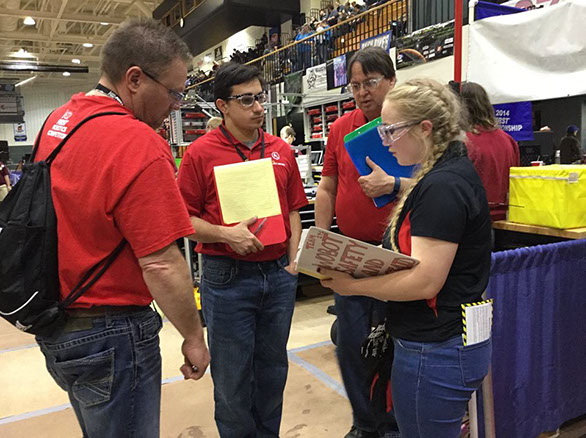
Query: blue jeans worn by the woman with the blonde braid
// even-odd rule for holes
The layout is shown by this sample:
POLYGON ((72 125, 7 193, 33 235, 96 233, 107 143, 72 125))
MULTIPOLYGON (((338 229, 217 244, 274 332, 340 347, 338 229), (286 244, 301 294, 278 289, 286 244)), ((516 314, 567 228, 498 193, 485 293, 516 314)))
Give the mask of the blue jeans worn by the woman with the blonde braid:
POLYGON ((402 438, 457 438, 472 393, 488 373, 492 339, 464 347, 393 339, 393 405, 402 438))

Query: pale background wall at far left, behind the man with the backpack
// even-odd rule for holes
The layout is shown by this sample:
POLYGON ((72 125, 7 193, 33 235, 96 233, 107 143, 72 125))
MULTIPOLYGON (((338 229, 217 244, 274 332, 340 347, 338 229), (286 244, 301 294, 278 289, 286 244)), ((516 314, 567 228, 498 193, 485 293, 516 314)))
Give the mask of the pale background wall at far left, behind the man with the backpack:
MULTIPOLYGON (((64 83, 23 85, 20 92, 24 98, 24 121, 26 122, 26 142, 14 141, 13 124, 0 124, 0 140, 8 140, 8 146, 32 146, 45 118, 55 108, 63 105, 71 95, 88 91, 93 83, 68 85, 64 83)), ((20 155, 15 149, 15 154, 20 155)))

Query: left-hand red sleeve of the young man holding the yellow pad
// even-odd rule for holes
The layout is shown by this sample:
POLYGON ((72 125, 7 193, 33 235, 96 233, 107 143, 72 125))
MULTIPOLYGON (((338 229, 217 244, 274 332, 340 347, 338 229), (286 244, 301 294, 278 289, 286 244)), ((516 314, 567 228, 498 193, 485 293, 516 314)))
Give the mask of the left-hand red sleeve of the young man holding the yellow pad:
MULTIPOLYGON (((191 146, 193 148, 195 146, 191 146)), ((177 178, 179 190, 190 216, 201 217, 205 206, 206 183, 203 170, 198 169, 193 154, 189 150, 181 160, 177 178)))

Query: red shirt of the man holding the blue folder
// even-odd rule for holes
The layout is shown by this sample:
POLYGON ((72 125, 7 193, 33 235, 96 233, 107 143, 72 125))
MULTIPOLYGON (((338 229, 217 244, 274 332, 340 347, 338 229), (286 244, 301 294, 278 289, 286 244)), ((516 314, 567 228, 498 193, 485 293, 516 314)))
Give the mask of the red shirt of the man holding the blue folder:
POLYGON ((380 242, 389 222, 394 203, 377 208, 358 183, 360 174, 344 147, 344 136, 367 123, 360 109, 334 122, 328 136, 323 176, 337 176, 336 221, 346 236, 380 242))

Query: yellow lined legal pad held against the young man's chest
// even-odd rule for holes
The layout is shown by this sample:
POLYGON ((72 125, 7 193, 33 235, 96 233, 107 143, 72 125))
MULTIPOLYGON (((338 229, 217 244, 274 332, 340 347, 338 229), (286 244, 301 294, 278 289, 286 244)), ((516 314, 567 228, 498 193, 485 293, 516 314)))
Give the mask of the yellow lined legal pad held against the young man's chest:
POLYGON ((253 216, 281 214, 277 180, 270 158, 214 167, 216 190, 225 224, 253 216))

